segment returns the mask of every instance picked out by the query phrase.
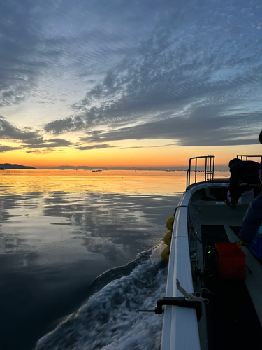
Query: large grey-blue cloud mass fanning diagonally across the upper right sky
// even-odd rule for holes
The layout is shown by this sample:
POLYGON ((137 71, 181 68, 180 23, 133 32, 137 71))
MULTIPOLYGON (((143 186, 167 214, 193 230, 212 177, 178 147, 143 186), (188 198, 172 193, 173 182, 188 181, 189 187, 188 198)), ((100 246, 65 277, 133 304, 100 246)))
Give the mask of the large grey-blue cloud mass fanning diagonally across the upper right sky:
POLYGON ((262 41, 254 27, 259 14, 254 8, 241 11, 245 1, 221 9, 203 1, 208 13, 191 3, 190 13, 178 10, 185 22, 173 22, 170 15, 164 24, 161 13, 161 26, 73 104, 77 117, 56 120, 45 130, 88 133, 100 127, 103 134, 90 142, 163 138, 182 146, 254 143, 262 110, 262 41), (252 102, 254 111, 249 112, 252 102), (247 120, 251 132, 245 130, 247 120), (105 131, 108 127, 112 131, 105 131), (197 137, 187 136, 196 130, 197 137))

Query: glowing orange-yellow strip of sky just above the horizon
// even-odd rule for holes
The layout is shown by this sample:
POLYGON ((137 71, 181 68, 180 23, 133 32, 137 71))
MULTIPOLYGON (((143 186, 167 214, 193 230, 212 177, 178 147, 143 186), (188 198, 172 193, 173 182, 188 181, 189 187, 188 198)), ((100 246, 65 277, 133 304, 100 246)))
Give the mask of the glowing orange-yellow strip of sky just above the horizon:
POLYGON ((189 158, 200 155, 214 155, 216 165, 228 165, 236 155, 261 155, 261 145, 215 146, 215 147, 144 147, 144 148, 101 148, 78 151, 64 148, 50 153, 26 153, 22 150, 1 154, 1 163, 27 165, 44 169, 61 165, 89 167, 151 167, 174 169, 187 167, 189 158))

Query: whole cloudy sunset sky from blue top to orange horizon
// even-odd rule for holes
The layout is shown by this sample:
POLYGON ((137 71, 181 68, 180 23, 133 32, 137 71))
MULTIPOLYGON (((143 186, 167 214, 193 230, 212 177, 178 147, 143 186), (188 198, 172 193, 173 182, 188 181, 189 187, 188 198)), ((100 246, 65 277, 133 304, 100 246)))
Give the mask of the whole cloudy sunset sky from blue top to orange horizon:
POLYGON ((0 52, 0 163, 262 154, 262 1, 1 0, 0 52))

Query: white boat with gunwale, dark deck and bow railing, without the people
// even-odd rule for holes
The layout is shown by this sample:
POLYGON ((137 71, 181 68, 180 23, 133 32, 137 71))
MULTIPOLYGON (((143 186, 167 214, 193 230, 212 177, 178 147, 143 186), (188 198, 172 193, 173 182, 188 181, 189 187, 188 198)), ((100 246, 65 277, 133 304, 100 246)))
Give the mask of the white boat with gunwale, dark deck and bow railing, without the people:
POLYGON ((174 213, 166 286, 166 297, 173 298, 174 304, 165 307, 161 350, 261 348, 261 261, 249 249, 239 251, 234 244, 240 241, 238 232, 254 193, 243 193, 233 209, 225 204, 228 184, 229 179, 214 179, 213 155, 189 159, 186 191, 174 213), (205 181, 198 181, 203 178, 205 181), (221 248, 235 251, 228 254, 231 263, 226 260, 228 255, 218 253, 219 242, 221 248), (237 264, 232 263, 235 256, 241 256, 237 264), (222 262, 225 271, 221 271, 222 262), (205 299, 201 302, 200 321, 193 304, 176 304, 177 297, 190 295, 199 305, 197 293, 209 300, 208 304, 205 299))

